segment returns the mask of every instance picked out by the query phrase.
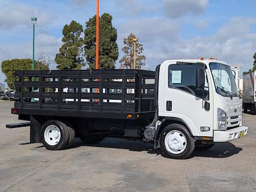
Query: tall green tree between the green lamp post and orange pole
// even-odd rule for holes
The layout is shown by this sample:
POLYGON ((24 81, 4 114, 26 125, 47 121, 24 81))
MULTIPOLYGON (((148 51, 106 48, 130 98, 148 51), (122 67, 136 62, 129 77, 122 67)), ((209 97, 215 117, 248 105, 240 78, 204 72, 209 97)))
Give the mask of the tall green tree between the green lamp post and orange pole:
POLYGON ((59 53, 56 54, 55 61, 57 68, 60 70, 81 69, 84 65, 82 56, 83 39, 81 33, 82 25, 74 20, 69 25, 65 25, 62 34, 62 42, 64 43, 59 53))

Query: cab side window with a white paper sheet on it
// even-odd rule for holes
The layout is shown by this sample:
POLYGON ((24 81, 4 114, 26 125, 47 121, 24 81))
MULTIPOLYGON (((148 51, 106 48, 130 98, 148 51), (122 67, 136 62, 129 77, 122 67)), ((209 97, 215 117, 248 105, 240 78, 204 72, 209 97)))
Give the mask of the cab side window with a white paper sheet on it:
POLYGON ((196 72, 202 69, 201 64, 169 65, 169 88, 176 88, 201 99, 209 99, 208 78, 205 76, 205 89, 196 89, 196 72))

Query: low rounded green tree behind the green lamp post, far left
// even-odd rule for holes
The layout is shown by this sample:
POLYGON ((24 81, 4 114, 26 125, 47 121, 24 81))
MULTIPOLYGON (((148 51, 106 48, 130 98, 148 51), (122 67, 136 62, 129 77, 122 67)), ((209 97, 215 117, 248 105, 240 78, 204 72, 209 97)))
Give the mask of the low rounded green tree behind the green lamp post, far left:
MULTIPOLYGON (((2 72, 5 74, 5 82, 9 88, 14 89, 15 70, 32 70, 31 59, 5 60, 1 64, 2 72)), ((35 61, 35 70, 48 70, 48 66, 41 61, 35 61)))

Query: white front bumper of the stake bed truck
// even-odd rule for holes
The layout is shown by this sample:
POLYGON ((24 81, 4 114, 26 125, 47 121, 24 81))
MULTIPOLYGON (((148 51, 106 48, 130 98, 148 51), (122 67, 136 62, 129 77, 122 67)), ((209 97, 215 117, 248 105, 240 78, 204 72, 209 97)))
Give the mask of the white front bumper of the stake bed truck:
POLYGON ((244 132, 243 136, 246 136, 248 127, 237 127, 226 131, 214 131, 214 142, 226 142, 241 138, 241 132, 244 132))

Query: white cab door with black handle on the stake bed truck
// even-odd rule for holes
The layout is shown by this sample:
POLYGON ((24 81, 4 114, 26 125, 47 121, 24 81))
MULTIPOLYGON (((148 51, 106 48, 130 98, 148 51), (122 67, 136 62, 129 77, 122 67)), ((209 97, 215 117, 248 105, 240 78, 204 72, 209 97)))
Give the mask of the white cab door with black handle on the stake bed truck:
POLYGON ((204 90, 196 89, 196 72, 197 69, 203 68, 205 68, 203 63, 167 65, 164 90, 165 114, 183 120, 194 136, 213 136, 214 106, 206 70, 204 90), (210 109, 205 108, 205 101, 210 104, 210 109), (209 129, 209 131, 200 131, 201 129, 209 129))

